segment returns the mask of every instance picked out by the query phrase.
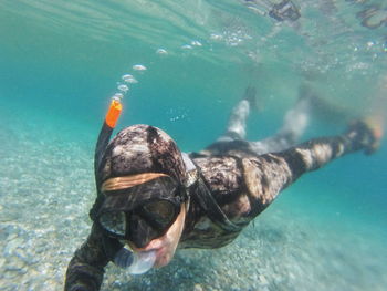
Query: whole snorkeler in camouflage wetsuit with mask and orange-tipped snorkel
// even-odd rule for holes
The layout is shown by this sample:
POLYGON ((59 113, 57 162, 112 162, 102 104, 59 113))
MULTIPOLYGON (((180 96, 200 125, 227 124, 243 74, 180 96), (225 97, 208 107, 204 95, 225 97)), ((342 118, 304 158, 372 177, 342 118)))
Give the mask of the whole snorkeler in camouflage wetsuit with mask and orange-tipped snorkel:
MULTIPOLYGON (((295 146, 317 100, 303 89, 274 136, 248 142, 254 100, 248 87, 224 135, 191 154, 149 125, 126 127, 108 143, 115 122, 106 118, 96 147, 92 231, 70 261, 66 291, 100 290, 109 261, 143 273, 168 264, 177 248, 226 246, 301 175, 353 152, 370 154, 381 138, 380 126, 357 121, 342 135, 295 146)), ((116 118, 119 104, 112 106, 108 116, 116 118)))

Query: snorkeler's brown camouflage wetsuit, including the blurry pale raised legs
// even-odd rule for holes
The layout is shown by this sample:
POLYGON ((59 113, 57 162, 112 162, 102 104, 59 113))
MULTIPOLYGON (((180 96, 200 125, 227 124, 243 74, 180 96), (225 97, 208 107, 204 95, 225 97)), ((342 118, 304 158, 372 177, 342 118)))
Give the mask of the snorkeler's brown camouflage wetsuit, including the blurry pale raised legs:
MULTIPOLYGON (((142 160, 145 155, 126 155, 133 150, 125 147, 130 141, 143 144, 151 156, 160 157, 158 150, 163 148, 171 152, 169 166, 174 165, 175 176, 186 180, 190 197, 179 248, 219 248, 236 239, 302 174, 345 154, 368 150, 375 142, 369 128, 359 122, 342 135, 293 146, 307 124, 308 98, 301 98, 286 114, 276 135, 261 142, 247 142, 244 126, 249 110, 249 100, 242 100, 231 114, 224 136, 207 149, 182 158, 175 142, 160 129, 147 125, 127 127, 106 149, 113 153, 119 148, 107 154, 111 159, 105 160, 101 180, 106 178, 107 172, 123 172, 119 167, 128 164, 133 167, 142 163, 146 170, 147 162, 142 160), (154 146, 156 139, 157 146, 154 146), (121 166, 112 168, 109 165, 118 159, 123 163, 115 165, 121 166)), ((93 218, 93 211, 91 216, 93 218)), ((91 235, 69 264, 65 290, 100 290, 104 267, 121 247, 117 240, 108 238, 97 224, 93 224, 91 235)))

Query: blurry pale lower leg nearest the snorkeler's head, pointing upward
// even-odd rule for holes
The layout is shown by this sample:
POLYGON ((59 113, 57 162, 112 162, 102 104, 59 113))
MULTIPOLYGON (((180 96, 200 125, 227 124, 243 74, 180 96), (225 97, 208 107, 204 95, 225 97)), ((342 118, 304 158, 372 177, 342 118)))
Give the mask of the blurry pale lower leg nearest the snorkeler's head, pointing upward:
POLYGON ((255 89, 248 86, 243 98, 233 107, 226 133, 217 142, 231 142, 245 138, 245 121, 255 103, 255 89))

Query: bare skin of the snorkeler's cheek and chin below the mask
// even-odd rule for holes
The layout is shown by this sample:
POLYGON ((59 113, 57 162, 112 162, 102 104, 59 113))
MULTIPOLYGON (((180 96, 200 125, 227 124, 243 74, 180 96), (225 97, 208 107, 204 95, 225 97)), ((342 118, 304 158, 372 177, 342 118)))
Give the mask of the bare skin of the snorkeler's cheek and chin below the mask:
POLYGON ((134 251, 156 250, 156 261, 154 267, 160 268, 167 266, 174 258, 176 248, 179 243, 184 230, 185 221, 186 205, 181 204, 180 214, 163 237, 150 240, 149 243, 144 248, 136 248, 130 241, 128 241, 128 245, 134 251))

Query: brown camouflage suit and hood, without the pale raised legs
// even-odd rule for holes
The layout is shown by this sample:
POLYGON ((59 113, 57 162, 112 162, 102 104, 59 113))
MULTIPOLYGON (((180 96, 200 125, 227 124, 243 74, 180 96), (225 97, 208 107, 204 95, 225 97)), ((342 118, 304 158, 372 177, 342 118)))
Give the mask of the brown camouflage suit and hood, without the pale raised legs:
MULTIPOLYGON (((359 122, 343 135, 312 139, 276 153, 259 155, 252 143, 232 139, 218 141, 202 153, 190 154, 197 173, 188 189, 190 200, 179 248, 219 248, 230 243, 302 174, 345 154, 367 150, 374 142, 372 132, 359 122), (240 230, 228 231, 211 220, 209 210, 200 204, 203 189, 210 191, 226 217, 240 230)), ((189 177, 186 173, 180 150, 166 133, 153 126, 135 125, 111 142, 97 184, 111 177, 146 172, 168 174, 181 184, 192 178, 192 173, 189 177)), ((98 197, 94 207, 98 208, 103 198, 98 197)), ((69 264, 65 290, 100 290, 103 269, 121 247, 94 224, 92 233, 69 264)))

